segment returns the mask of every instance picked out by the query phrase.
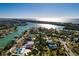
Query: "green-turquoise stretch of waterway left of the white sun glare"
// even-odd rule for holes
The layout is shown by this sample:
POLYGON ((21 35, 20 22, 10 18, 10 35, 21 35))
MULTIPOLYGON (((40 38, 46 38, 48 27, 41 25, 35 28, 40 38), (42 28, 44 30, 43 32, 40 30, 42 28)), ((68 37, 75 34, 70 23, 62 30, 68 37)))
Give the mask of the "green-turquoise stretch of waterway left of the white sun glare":
POLYGON ((25 30, 30 29, 32 26, 35 26, 35 24, 31 23, 25 26, 17 26, 17 29, 15 32, 10 33, 4 38, 0 38, 0 49, 4 49, 5 46, 7 46, 13 39, 15 39, 15 36, 20 36, 25 30))

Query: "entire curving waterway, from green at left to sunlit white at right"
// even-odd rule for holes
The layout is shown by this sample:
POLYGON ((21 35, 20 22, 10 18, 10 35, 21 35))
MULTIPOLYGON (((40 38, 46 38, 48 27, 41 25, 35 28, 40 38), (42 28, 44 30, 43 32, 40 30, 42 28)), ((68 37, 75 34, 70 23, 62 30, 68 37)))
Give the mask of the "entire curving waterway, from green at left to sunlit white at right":
POLYGON ((63 29, 63 26, 51 25, 51 24, 39 24, 39 23, 27 23, 24 26, 17 26, 16 31, 8 34, 4 38, 0 38, 0 49, 4 49, 16 36, 21 36, 25 30, 28 30, 32 27, 45 27, 45 28, 56 28, 56 29, 63 29))

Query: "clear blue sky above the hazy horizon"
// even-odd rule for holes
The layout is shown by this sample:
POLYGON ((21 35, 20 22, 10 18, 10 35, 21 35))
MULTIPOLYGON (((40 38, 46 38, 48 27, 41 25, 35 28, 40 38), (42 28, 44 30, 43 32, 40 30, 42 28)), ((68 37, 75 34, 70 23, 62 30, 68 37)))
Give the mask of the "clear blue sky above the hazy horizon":
POLYGON ((0 3, 0 17, 78 17, 79 4, 0 3))

